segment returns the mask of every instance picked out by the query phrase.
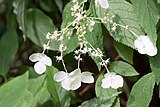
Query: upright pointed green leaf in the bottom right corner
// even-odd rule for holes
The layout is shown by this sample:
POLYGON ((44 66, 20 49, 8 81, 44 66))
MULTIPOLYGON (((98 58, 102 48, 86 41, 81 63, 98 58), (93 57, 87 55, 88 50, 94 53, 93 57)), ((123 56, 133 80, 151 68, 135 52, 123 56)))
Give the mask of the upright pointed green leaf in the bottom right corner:
POLYGON ((131 90, 127 107, 148 107, 152 99, 155 80, 149 73, 136 82, 131 90))

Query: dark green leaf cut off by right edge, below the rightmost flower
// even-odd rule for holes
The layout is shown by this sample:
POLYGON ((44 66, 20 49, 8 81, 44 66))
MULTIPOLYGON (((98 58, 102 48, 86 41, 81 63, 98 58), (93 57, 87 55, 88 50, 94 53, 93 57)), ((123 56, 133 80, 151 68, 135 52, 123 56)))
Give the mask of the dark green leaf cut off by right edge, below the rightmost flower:
MULTIPOLYGON (((160 34, 160 33, 159 33, 160 34)), ((157 40, 157 48, 158 50, 160 50, 160 38, 158 37, 158 40, 157 40)), ((155 76, 155 81, 157 84, 159 84, 160 82, 160 53, 158 52, 157 55, 155 57, 150 57, 149 58, 150 60, 150 65, 151 65, 151 70, 155 76)))

